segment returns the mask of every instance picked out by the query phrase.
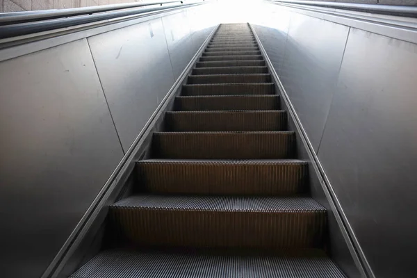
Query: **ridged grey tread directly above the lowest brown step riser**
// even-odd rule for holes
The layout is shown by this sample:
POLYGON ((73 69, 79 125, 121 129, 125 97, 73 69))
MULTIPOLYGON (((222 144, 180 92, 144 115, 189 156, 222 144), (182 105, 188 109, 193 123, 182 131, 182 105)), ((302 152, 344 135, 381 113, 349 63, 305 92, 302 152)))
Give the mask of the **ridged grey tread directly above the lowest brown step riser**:
POLYGON ((326 213, 310 197, 241 197, 241 196, 181 196, 133 195, 111 205, 113 209, 157 208, 167 211, 234 211, 265 213, 326 213))

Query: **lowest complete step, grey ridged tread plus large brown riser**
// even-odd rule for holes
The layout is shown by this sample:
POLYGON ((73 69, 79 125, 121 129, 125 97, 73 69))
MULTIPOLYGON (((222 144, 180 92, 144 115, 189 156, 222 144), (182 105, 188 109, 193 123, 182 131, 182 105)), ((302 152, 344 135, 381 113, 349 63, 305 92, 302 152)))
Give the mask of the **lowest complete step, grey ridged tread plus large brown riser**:
POLYGON ((307 197, 135 195, 109 214, 115 234, 145 246, 314 248, 327 222, 307 197))

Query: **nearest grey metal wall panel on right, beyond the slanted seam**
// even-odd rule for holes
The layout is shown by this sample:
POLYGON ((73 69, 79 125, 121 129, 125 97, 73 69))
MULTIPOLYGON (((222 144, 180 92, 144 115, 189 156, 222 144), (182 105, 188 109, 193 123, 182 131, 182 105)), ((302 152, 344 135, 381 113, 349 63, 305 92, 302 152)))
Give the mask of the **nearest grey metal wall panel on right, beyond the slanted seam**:
POLYGON ((318 152, 377 277, 415 276, 416 53, 350 31, 318 152))

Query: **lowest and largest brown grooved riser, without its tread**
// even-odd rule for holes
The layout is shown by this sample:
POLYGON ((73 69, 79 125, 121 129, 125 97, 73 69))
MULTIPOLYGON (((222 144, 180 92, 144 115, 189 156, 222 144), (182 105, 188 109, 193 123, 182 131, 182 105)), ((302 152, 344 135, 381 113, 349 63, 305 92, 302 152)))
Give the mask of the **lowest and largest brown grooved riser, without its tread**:
POLYGON ((239 213, 110 208, 113 227, 136 245, 320 247, 326 213, 239 213), (256 220, 256 222, 254 221, 256 220))

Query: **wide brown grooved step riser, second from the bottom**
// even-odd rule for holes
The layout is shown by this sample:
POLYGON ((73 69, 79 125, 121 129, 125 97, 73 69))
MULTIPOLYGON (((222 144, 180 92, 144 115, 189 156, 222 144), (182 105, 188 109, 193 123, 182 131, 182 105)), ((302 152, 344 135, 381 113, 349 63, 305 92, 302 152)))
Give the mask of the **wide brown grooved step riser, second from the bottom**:
POLYGON ((304 193, 307 163, 298 160, 138 161, 138 182, 153 194, 271 195, 304 193))

